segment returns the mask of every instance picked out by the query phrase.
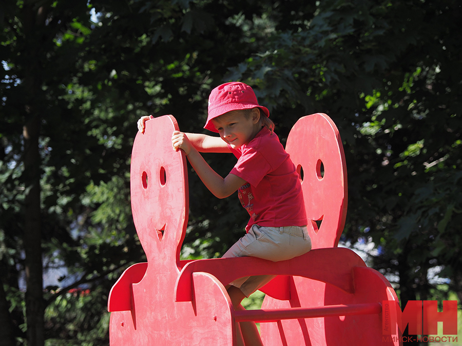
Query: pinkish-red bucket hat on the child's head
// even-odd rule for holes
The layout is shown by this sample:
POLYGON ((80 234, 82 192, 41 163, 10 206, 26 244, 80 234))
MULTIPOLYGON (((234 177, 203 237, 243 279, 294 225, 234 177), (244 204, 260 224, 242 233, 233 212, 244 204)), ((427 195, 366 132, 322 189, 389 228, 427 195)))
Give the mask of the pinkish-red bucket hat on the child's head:
POLYGON ((211 91, 208 97, 208 117, 204 129, 218 132, 214 124, 210 121, 226 112, 261 108, 265 115, 269 117, 266 107, 260 106, 252 87, 241 82, 230 82, 222 84, 211 91))

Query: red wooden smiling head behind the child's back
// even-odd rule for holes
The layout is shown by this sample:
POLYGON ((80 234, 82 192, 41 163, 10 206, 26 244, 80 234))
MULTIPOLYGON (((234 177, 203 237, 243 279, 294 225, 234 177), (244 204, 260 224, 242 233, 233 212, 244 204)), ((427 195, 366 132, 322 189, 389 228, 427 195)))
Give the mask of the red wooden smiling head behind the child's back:
POLYGON ((336 247, 348 199, 347 166, 337 127, 325 114, 304 116, 292 128, 285 150, 302 180, 313 249, 336 247))

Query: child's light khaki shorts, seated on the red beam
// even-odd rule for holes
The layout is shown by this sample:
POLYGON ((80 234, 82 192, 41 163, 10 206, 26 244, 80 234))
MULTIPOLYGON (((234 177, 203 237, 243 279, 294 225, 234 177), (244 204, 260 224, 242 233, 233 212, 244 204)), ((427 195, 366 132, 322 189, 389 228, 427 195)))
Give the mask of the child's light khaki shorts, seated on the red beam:
MULTIPOLYGON (((253 256, 274 262, 291 259, 311 250, 306 226, 263 227, 253 225, 223 257, 253 256)), ((230 282, 246 297, 263 287, 276 275, 245 276, 230 282)))

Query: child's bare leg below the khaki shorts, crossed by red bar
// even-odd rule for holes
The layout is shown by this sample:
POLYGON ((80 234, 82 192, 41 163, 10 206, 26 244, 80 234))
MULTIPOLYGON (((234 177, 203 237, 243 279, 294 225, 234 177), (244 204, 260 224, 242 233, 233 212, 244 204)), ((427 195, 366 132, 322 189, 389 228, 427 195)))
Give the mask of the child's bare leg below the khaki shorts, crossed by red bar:
MULTIPOLYGON (((245 298, 244 293, 234 286, 229 286, 227 292, 233 303, 234 310, 245 310, 241 305, 242 299, 245 298)), ((236 322, 236 338, 238 346, 263 346, 255 322, 236 322)))

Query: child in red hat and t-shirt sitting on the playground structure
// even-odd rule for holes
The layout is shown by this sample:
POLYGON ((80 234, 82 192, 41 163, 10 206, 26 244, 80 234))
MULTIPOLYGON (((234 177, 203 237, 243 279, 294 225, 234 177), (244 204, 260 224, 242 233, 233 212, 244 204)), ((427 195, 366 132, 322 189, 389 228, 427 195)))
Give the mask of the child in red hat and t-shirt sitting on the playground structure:
MULTIPOLYGON (((175 150, 182 149, 205 186, 218 198, 235 191, 251 218, 239 239, 223 257, 254 256, 272 261, 290 259, 311 250, 299 176, 285 152, 267 108, 258 105, 251 87, 232 82, 211 91, 205 129, 220 137, 204 134, 172 134, 175 150), (199 152, 233 153, 238 161, 222 178, 199 152)), ((138 129, 144 132, 144 116, 138 129)), ((273 275, 239 278, 226 290, 236 310, 241 301, 273 279, 273 275)), ((237 325, 238 345, 262 345, 253 322, 237 325)))

